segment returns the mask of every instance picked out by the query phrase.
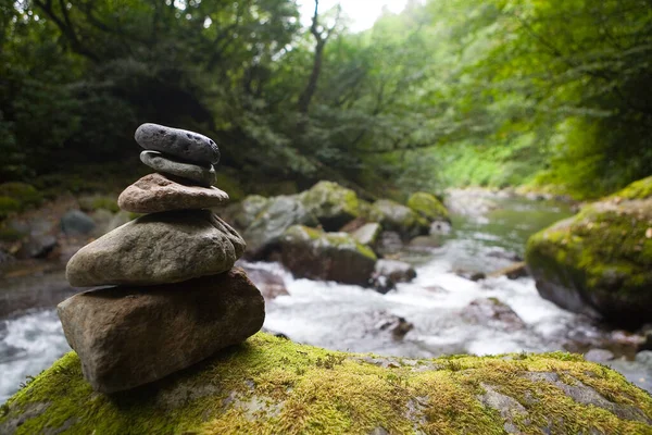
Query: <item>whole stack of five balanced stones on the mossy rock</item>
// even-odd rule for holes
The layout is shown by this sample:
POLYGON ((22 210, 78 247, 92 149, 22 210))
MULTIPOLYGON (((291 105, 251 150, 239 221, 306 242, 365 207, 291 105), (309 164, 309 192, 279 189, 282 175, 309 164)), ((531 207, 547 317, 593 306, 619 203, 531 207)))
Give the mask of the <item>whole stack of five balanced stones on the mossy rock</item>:
POLYGON ((244 240, 208 210, 228 200, 212 187, 217 145, 156 124, 138 127, 136 141, 156 173, 127 187, 118 206, 147 214, 70 260, 72 286, 103 287, 58 307, 84 376, 102 393, 186 369, 255 334, 265 318, 259 289, 234 268, 244 240))

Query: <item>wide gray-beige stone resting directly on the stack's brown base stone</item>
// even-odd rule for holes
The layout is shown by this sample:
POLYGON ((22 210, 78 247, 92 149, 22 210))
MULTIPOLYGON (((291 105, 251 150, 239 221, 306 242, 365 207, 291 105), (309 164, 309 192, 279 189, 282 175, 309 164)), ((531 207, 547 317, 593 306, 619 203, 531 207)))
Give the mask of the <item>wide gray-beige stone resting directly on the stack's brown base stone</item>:
POLYGON ((209 210, 138 217, 79 249, 66 276, 75 287, 177 283, 228 271, 244 240, 209 210))

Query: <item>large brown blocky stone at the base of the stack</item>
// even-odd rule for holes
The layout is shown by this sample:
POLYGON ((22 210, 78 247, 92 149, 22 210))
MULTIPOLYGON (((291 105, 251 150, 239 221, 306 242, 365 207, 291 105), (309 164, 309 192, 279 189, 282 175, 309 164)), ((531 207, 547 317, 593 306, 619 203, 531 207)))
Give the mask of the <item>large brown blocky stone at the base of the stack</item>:
POLYGON ((262 327, 265 304, 236 268, 178 284, 77 294, 58 313, 86 380, 98 391, 113 393, 243 341, 262 327))

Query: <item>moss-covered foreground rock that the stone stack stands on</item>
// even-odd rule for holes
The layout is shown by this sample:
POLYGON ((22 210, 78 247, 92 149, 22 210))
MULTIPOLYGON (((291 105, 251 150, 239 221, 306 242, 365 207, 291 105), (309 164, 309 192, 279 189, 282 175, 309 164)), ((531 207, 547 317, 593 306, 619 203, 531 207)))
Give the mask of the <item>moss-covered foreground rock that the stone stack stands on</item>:
POLYGON ((650 434, 652 398, 568 353, 411 360, 258 334, 113 396, 71 352, 0 408, 0 433, 650 434))

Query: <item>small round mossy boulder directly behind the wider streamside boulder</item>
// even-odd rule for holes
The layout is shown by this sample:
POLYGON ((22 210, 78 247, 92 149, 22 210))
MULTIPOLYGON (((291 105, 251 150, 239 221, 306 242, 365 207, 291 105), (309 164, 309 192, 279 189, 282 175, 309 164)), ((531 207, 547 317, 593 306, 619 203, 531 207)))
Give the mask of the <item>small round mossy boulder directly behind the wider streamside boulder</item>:
POLYGON ((338 231, 361 215, 358 195, 333 182, 319 182, 300 195, 305 209, 326 231, 338 231))

